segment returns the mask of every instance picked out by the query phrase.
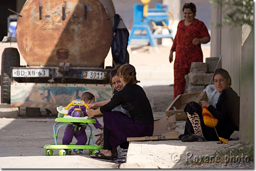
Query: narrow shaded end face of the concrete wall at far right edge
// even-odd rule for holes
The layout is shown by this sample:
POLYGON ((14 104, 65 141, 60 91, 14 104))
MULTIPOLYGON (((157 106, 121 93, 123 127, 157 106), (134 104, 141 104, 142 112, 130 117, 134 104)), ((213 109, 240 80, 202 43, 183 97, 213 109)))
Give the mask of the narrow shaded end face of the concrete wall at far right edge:
POLYGON ((254 76, 253 76, 253 30, 242 46, 241 82, 240 82, 240 133, 241 141, 251 141, 254 138, 254 76))

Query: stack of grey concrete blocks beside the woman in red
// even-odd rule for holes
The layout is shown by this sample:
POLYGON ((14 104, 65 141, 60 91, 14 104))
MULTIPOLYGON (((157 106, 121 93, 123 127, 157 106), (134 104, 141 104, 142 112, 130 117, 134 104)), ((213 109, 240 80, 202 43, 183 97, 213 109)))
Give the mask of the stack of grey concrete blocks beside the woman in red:
MULTIPOLYGON (((185 76, 186 92, 201 92, 209 85, 219 57, 208 57, 206 62, 192 62, 190 73, 185 76)), ((221 68, 221 60, 217 68, 221 68)), ((213 84, 213 81, 211 82, 213 84)))

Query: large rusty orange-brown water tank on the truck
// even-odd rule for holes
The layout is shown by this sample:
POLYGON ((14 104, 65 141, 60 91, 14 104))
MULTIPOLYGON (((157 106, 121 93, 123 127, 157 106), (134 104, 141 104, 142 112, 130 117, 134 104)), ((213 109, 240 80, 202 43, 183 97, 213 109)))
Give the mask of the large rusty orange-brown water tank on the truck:
POLYGON ((28 66, 99 67, 112 41, 111 0, 27 0, 17 44, 28 66))

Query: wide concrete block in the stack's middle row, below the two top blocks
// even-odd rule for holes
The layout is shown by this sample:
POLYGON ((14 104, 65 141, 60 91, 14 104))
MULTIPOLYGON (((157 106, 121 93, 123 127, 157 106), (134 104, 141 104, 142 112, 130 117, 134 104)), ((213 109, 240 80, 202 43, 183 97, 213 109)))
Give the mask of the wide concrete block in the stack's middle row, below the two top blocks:
POLYGON ((189 73, 189 84, 209 85, 213 73, 189 73))

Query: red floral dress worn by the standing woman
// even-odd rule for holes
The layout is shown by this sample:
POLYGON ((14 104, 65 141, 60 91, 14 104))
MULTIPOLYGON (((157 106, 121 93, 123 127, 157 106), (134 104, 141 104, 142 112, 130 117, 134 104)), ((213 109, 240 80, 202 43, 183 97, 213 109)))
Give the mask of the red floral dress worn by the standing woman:
POLYGON ((194 38, 210 37, 206 25, 195 19, 194 22, 185 26, 184 19, 178 24, 171 51, 175 51, 174 61, 174 99, 184 94, 186 80, 184 78, 190 71, 192 62, 203 62, 201 44, 194 45, 194 38))

